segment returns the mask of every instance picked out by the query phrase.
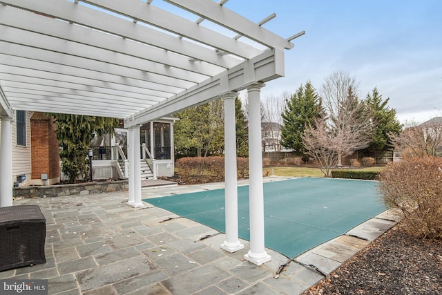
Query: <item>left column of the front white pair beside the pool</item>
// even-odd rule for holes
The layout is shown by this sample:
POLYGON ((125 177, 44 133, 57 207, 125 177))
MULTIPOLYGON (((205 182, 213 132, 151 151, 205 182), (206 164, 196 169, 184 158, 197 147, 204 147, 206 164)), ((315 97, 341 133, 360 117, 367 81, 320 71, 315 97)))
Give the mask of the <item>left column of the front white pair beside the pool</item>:
POLYGON ((236 173, 236 126, 235 126, 236 93, 224 96, 224 183, 226 240, 221 249, 230 253, 244 249, 238 239, 238 186, 236 173))

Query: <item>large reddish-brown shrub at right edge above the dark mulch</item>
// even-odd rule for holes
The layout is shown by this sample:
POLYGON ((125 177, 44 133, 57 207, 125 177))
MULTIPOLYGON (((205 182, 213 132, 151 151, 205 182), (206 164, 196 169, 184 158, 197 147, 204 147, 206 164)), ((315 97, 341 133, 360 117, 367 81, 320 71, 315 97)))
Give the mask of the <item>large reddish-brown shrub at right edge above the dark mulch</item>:
POLYGON ((442 238, 442 158, 427 156, 390 163, 379 189, 388 207, 403 212, 407 231, 421 238, 442 238))

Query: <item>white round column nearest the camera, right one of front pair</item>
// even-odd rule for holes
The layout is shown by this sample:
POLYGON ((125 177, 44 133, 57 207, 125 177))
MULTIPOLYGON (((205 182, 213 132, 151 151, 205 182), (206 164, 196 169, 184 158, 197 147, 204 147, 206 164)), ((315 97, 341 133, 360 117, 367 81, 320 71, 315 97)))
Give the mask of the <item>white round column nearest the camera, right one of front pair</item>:
POLYGON ((264 188, 262 186, 261 108, 262 83, 247 87, 249 94, 249 211, 250 250, 246 260, 262 265, 271 260, 265 251, 264 236, 264 188))

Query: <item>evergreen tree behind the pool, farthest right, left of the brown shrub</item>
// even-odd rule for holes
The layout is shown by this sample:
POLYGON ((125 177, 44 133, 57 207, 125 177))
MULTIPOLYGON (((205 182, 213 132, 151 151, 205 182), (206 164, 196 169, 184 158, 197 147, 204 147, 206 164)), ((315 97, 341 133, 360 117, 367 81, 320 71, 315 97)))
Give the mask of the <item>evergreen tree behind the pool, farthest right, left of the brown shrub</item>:
POLYGON ((383 100, 376 87, 366 97, 367 105, 372 111, 373 128, 372 141, 368 149, 375 156, 392 149, 393 144, 390 136, 397 135, 402 131, 402 125, 396 118, 396 110, 387 106, 389 100, 390 97, 383 100))

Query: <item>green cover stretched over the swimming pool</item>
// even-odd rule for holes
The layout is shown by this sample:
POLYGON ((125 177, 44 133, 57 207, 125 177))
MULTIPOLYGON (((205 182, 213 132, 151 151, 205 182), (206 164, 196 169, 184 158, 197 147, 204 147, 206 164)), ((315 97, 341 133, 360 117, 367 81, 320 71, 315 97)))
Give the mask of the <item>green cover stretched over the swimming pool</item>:
MULTIPOLYGON (((385 205, 377 182, 298 178, 264 184, 265 246, 289 258, 345 234, 385 205)), ((145 199, 224 232, 224 189, 145 199)), ((239 236, 250 239, 249 186, 238 187, 239 236)))

